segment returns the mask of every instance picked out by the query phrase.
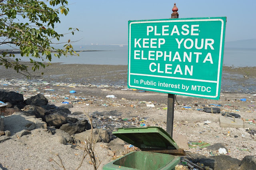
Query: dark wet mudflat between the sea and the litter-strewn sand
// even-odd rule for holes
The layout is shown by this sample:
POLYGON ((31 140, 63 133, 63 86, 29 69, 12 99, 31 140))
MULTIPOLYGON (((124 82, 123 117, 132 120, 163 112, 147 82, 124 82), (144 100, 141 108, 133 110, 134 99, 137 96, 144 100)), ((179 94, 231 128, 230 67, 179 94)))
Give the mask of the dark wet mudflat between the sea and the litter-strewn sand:
MULTIPOLYGON (((26 79, 12 69, 0 67, 3 79, 26 79)), ((31 80, 61 83, 127 86, 127 65, 88 65, 52 63, 40 71, 31 71, 31 80), (42 75, 41 73, 44 72, 42 75)), ((256 67, 223 67, 223 93, 255 93, 256 67)))

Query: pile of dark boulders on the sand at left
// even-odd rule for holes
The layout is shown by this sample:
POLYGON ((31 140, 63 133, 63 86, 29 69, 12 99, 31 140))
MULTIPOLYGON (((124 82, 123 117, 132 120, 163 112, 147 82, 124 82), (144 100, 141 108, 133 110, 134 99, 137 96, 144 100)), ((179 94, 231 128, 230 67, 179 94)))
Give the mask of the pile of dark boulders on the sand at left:
MULTIPOLYGON (((24 101, 22 94, 1 90, 0 101, 8 104, 5 109, 5 116, 20 112, 25 116, 41 118, 48 127, 58 128, 69 135, 84 132, 91 128, 86 119, 78 120, 68 116, 71 114, 69 108, 73 107, 72 105, 62 105, 60 107, 48 105, 48 99, 42 94, 32 96, 24 101)), ((35 126, 33 127, 36 128, 35 126)), ((29 130, 32 129, 32 127, 29 128, 29 130)))

